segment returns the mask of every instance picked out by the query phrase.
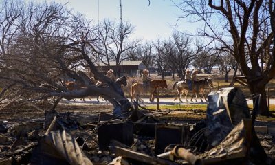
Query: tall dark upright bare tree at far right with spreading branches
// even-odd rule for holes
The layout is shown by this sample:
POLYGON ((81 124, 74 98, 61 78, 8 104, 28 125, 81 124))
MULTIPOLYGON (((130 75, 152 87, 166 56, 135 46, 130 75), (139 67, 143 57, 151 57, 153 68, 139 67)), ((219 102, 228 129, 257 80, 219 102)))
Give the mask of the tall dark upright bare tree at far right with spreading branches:
POLYGON ((184 17, 204 23, 198 35, 208 36, 233 52, 251 93, 261 94, 261 115, 270 115, 265 86, 275 75, 274 5, 272 0, 196 0, 177 4, 186 12, 184 17))

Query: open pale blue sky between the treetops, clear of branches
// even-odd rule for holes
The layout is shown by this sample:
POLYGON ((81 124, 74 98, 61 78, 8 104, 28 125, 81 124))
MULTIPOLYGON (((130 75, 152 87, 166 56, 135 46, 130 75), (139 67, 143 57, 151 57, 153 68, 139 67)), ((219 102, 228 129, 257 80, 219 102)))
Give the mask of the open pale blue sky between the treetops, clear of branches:
MULTIPOLYGON (((40 1, 40 0, 35 0, 40 1)), ((67 3, 67 8, 85 14, 87 19, 94 23, 109 18, 111 21, 120 22, 120 0, 44 0, 56 3, 67 3), (98 4, 99 3, 99 4, 98 4), (99 14, 99 17, 98 17, 99 14)), ((133 25, 133 39, 155 41, 168 38, 181 16, 179 10, 170 0, 121 0, 122 21, 133 25)), ((195 24, 181 20, 180 31, 195 32, 195 24)))

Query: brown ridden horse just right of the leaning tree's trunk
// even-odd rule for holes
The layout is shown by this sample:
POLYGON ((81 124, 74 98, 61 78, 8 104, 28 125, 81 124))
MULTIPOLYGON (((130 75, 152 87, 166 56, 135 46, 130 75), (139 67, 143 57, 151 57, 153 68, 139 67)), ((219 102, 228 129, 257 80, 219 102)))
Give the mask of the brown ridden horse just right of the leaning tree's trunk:
POLYGON ((144 94, 146 91, 150 93, 150 102, 154 101, 154 94, 157 88, 167 88, 166 80, 150 80, 149 86, 144 87, 144 83, 133 83, 131 86, 131 101, 133 101, 137 94, 144 94))

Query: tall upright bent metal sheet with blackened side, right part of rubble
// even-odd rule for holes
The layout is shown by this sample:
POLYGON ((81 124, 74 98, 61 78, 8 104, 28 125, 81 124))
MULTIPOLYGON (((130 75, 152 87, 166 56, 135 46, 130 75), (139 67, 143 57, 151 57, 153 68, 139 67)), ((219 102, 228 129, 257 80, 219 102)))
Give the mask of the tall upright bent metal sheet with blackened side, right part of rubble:
POLYGON ((205 136, 212 148, 242 119, 250 118, 250 112, 243 92, 237 87, 211 92, 208 101, 205 136))

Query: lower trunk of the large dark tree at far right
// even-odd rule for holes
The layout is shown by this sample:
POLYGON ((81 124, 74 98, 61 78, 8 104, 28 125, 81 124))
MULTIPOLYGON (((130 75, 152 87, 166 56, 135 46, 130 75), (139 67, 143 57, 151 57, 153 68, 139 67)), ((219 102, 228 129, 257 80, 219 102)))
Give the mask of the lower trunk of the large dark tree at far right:
MULTIPOLYGON (((265 92, 265 85, 259 85, 256 82, 249 83, 249 88, 250 88, 251 94, 261 94, 259 115, 265 115, 265 116, 271 115, 267 107, 267 96, 265 92)), ((255 99, 253 99, 253 104, 255 104, 255 99)))

